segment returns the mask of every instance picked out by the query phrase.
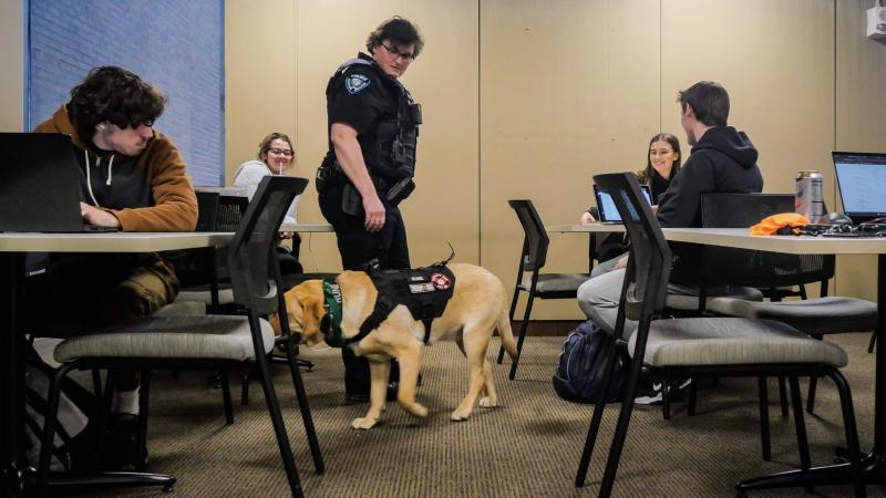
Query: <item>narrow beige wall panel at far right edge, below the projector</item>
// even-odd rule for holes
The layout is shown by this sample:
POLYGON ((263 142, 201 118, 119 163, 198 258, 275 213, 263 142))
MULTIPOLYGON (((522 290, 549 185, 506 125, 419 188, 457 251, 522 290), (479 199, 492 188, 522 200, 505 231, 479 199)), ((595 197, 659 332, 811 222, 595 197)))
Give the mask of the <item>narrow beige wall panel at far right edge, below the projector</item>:
MULTIPOLYGON (((836 148, 886 152, 886 42, 866 32, 868 0, 837 1, 836 148)), ((837 292, 876 300, 874 256, 837 258, 837 292)))

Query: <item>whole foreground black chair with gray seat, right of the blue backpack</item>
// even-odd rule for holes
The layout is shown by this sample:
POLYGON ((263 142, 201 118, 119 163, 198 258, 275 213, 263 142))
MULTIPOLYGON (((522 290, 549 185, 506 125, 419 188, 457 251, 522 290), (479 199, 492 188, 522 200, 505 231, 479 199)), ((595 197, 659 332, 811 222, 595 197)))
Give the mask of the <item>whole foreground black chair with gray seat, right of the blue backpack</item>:
MULTIPOLYGON (((837 370, 847 362, 846 353, 834 344, 817 341, 790 325, 767 321, 730 318, 690 318, 653 320, 661 315, 668 293, 671 251, 667 240, 641 197, 637 178, 629 173, 599 175, 595 183, 615 199, 631 240, 631 257, 621 290, 616 331, 609 341, 620 341, 626 318, 639 321, 628 342, 632 363, 622 394, 621 409, 609 448, 606 470, 598 496, 608 497, 615 484, 640 369, 678 376, 718 375, 765 377, 785 375, 792 378, 791 392, 801 454, 801 467, 810 467, 805 440, 803 409, 797 375, 825 374, 839 391, 849 458, 855 477, 856 495, 863 496, 858 435, 852 395, 846 380, 837 370)), ((611 381, 615 351, 606 362, 604 390, 611 381)), ((602 398, 596 404, 588 436, 579 461, 575 484, 584 486, 588 466, 604 415, 602 398)))

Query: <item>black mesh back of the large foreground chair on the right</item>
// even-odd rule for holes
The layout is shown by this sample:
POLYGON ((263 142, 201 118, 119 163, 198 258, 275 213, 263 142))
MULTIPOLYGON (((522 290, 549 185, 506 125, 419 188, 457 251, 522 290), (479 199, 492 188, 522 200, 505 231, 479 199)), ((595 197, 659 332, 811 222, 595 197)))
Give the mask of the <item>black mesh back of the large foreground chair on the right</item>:
POLYGON ((594 183, 612 196, 630 238, 630 259, 625 278, 625 317, 650 320, 664 308, 671 273, 671 251, 658 219, 640 193, 632 173, 597 175, 594 183))

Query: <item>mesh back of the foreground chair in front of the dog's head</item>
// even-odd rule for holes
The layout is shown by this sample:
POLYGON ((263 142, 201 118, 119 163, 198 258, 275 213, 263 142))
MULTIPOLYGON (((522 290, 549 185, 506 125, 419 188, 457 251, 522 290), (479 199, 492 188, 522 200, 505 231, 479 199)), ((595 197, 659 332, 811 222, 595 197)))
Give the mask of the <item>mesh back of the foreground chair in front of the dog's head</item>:
POLYGON ((277 232, 306 178, 266 176, 249 203, 228 250, 234 301, 257 314, 277 310, 277 232))

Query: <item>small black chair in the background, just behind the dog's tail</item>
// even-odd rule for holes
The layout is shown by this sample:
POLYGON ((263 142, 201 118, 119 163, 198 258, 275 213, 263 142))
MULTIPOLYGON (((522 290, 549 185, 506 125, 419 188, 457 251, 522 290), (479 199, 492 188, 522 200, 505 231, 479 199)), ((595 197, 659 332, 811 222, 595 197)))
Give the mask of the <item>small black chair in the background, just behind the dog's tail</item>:
MULTIPOLYGON (((529 326, 529 315, 533 312, 533 301, 535 298, 540 299, 575 299, 578 292, 578 287, 590 278, 588 273, 542 273, 542 268, 547 262, 547 247, 549 239, 545 232, 545 225, 535 210, 533 201, 528 199, 508 200, 511 206, 517 214, 519 224, 523 227, 523 250, 519 256, 519 266, 517 267, 517 283, 514 286, 514 298, 511 301, 511 311, 508 318, 514 321, 514 312, 517 309, 517 301, 521 291, 527 292, 528 298, 526 301, 526 310, 523 313, 523 323, 519 329, 519 339, 517 340, 517 357, 511 365, 511 373, 508 378, 512 381, 517 373, 517 364, 519 363, 519 354, 523 351, 523 341, 526 339, 526 329, 529 326), (529 273, 525 277, 525 273, 529 273)), ((498 364, 502 364, 504 359, 504 346, 498 349, 498 364)))

